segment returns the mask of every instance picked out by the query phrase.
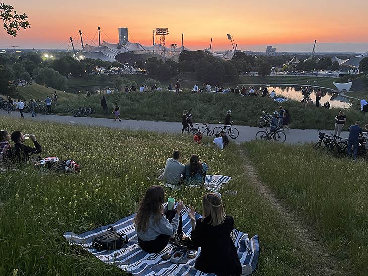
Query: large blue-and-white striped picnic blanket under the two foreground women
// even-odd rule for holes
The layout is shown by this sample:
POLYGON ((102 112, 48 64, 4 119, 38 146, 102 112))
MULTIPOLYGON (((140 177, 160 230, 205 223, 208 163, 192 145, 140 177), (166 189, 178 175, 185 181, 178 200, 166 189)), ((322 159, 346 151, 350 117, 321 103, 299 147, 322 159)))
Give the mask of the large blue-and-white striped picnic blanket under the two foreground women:
MULTIPOLYGON (((183 220, 183 232, 187 235, 191 232, 191 222, 187 214, 188 206, 181 211, 183 220)), ((163 260, 161 256, 166 253, 173 253, 175 245, 168 244, 166 248, 158 254, 149 254, 143 251, 138 245, 137 234, 134 229, 133 220, 136 214, 121 219, 111 224, 115 231, 124 233, 128 236, 128 244, 118 250, 97 251, 92 247, 93 238, 101 232, 107 230, 109 225, 98 227, 94 230, 77 235, 73 232, 64 233, 64 238, 71 245, 79 245, 83 249, 92 253, 96 258, 106 264, 115 265, 121 270, 133 275, 140 276, 204 276, 214 275, 200 272, 194 268, 195 259, 189 259, 185 264, 171 263, 170 260, 163 260)), ((195 213, 196 219, 201 215, 195 213)), ((239 259, 242 265, 249 264, 254 270, 259 256, 258 235, 249 239, 246 233, 234 229, 234 243, 238 251, 239 259)), ((198 249, 200 254, 200 248, 198 249)), ((198 255, 197 255, 198 256, 198 255)))

